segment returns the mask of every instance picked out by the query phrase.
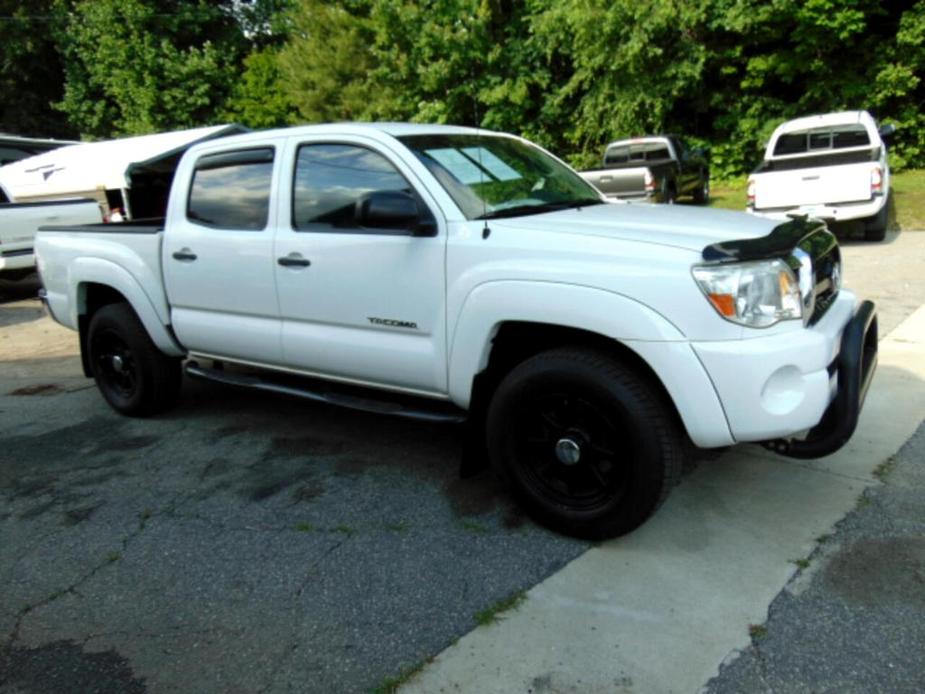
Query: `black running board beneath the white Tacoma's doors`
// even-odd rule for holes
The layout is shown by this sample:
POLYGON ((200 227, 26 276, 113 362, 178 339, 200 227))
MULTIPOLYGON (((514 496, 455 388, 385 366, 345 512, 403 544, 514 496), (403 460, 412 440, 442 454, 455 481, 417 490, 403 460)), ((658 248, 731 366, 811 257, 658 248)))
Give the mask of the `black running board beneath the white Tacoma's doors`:
POLYGON ((194 361, 186 363, 186 374, 190 378, 199 378, 206 381, 214 381, 216 383, 237 386, 239 388, 251 388, 268 393, 291 395, 297 398, 323 402, 329 405, 337 405, 338 407, 348 407, 352 410, 372 412, 374 414, 385 414, 445 424, 455 424, 466 420, 465 410, 461 410, 455 405, 443 401, 431 401, 426 398, 414 398, 412 396, 402 395, 393 395, 393 397, 398 400, 380 400, 369 397, 368 391, 364 390, 363 393, 360 394, 358 388, 350 388, 349 386, 340 388, 324 381, 291 377, 287 378, 286 382, 282 382, 281 380, 270 380, 269 378, 261 378, 260 376, 252 374, 229 372, 224 369, 207 369, 199 366, 199 364, 194 361), (350 392, 348 388, 356 392, 350 392))

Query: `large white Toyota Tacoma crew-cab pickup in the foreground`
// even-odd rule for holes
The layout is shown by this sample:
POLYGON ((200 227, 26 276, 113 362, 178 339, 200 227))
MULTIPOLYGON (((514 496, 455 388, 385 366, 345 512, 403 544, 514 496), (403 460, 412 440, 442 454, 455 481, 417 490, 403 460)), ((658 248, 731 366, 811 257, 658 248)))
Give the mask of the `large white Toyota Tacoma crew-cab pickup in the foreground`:
MULTIPOLYGON (((467 420, 526 508, 606 537, 689 442, 818 457, 851 436, 876 314, 818 221, 604 204, 517 137, 403 124, 184 154, 161 223, 49 228, 52 316, 116 410, 192 377, 467 420)), ((475 447, 479 450, 479 447, 475 447)))

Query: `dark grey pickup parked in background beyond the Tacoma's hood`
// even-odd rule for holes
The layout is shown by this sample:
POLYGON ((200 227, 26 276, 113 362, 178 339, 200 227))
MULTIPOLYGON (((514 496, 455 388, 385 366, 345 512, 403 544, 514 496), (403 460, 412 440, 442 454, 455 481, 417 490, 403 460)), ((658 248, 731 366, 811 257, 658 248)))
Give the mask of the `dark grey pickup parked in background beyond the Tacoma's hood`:
POLYGON ((581 176, 611 198, 674 203, 682 195, 710 199, 710 167, 702 150, 674 135, 618 140, 607 145, 604 165, 581 176))

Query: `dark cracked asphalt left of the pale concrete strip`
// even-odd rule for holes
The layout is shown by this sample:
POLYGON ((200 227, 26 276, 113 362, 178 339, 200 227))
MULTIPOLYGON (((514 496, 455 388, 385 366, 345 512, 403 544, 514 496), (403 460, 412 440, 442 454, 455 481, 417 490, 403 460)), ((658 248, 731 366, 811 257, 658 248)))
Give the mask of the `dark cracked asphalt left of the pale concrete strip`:
POLYGON ((75 335, 12 298, 3 694, 368 692, 587 547, 460 479, 453 427, 189 381, 170 413, 121 417, 75 335))

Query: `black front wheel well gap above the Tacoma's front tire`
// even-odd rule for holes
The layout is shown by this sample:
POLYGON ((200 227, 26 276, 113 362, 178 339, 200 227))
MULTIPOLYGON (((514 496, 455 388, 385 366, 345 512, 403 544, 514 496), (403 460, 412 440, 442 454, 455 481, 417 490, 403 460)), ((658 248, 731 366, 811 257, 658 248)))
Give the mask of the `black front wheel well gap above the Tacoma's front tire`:
POLYGON ((498 384, 515 366, 540 352, 560 347, 593 349, 631 368, 652 386, 673 413, 680 430, 686 431, 674 400, 662 380, 636 352, 600 333, 546 323, 508 322, 498 328, 492 339, 488 364, 473 381, 470 412, 476 417, 483 415, 498 384))

